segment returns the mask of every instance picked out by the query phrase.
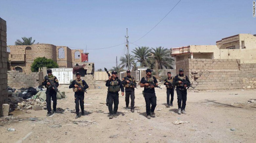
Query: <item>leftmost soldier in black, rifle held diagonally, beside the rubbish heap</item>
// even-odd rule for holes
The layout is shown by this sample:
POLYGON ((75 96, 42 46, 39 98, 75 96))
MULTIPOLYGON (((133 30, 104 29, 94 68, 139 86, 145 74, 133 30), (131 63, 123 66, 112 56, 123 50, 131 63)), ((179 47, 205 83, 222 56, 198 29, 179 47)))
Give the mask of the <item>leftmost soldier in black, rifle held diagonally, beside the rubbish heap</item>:
MULTIPOLYGON (((47 74, 48 74, 47 75, 48 78, 53 82, 53 84, 55 84, 56 87, 58 87, 59 86, 58 79, 52 75, 51 69, 47 70, 47 74)), ((46 93, 46 105, 47 105, 47 111, 48 111, 46 116, 50 116, 51 111, 52 111, 51 98, 53 100, 53 113, 56 113, 57 92, 53 89, 50 82, 47 81, 46 79, 43 80, 42 86, 45 86, 45 88, 47 88, 46 92, 45 92, 46 93)))

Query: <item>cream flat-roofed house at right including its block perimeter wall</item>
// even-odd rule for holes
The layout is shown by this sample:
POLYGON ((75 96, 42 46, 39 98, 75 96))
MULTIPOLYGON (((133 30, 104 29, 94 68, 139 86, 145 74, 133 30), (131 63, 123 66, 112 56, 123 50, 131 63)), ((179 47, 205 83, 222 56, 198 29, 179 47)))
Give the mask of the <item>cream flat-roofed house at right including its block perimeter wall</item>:
POLYGON ((256 35, 238 34, 216 45, 171 49, 180 68, 196 89, 256 88, 256 35))

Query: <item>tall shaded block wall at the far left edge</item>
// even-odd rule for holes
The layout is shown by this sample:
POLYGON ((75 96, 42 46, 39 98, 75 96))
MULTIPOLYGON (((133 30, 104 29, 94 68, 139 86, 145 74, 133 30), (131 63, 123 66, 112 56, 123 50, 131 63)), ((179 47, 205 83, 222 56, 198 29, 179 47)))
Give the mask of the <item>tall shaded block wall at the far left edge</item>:
POLYGON ((0 18, 0 114, 2 114, 2 104, 8 103, 6 27, 6 21, 0 18))

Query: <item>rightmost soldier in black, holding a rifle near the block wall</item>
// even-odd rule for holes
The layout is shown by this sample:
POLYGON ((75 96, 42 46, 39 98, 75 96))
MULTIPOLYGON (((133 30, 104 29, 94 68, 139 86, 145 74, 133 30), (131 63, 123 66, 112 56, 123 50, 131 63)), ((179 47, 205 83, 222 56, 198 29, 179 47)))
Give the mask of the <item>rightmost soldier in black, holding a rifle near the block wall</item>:
POLYGON ((187 85, 183 84, 180 80, 177 79, 184 79, 188 83, 190 83, 188 77, 183 74, 184 70, 180 69, 179 74, 176 75, 173 79, 173 84, 176 85, 176 92, 177 92, 177 97, 178 97, 178 114, 186 114, 185 112, 185 107, 186 107, 186 101, 187 101, 187 85), (182 101, 182 106, 181 106, 181 101, 182 101))

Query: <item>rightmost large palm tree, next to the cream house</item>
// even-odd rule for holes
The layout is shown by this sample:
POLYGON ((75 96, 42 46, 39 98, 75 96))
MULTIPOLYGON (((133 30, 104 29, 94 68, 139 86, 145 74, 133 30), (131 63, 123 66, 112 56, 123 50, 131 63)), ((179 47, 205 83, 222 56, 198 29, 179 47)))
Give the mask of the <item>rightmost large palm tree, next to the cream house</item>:
POLYGON ((156 49, 153 49, 152 54, 156 69, 173 69, 172 63, 174 59, 170 57, 170 51, 167 48, 156 47, 156 49))

